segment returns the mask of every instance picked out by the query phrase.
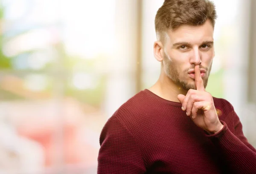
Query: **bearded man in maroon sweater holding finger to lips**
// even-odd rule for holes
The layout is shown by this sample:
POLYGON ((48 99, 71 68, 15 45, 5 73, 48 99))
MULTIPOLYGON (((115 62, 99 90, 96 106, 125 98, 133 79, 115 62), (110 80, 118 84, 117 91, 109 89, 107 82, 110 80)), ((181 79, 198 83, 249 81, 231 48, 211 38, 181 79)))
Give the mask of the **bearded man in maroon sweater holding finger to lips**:
POLYGON ((155 17, 160 77, 105 124, 98 174, 256 174, 233 106, 205 90, 215 19, 208 0, 165 0, 155 17))

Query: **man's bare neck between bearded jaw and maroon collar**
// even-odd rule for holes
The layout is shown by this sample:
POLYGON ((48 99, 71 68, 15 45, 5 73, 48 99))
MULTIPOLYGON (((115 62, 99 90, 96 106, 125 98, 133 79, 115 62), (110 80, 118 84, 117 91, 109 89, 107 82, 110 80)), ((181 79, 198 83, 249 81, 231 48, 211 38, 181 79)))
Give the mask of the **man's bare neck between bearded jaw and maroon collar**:
POLYGON ((149 90, 163 99, 179 103, 178 94, 186 95, 188 91, 175 84, 163 71, 161 71, 157 82, 149 90))

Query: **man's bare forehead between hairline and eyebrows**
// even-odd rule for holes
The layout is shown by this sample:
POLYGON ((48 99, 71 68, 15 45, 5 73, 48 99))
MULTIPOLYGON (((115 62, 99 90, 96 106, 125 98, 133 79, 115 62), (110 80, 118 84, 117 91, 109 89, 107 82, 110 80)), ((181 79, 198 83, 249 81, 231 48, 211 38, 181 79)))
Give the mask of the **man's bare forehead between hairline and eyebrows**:
POLYGON ((200 26, 179 26, 177 29, 169 30, 167 35, 169 36, 168 40, 171 44, 177 42, 200 44, 204 41, 213 41, 213 31, 212 23, 207 20, 200 26))

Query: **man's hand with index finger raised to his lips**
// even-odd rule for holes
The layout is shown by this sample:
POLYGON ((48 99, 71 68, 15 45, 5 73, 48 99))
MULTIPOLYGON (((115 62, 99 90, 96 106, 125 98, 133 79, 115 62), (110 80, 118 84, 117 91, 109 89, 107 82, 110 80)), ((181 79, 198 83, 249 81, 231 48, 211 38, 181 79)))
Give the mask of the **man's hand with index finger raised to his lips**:
POLYGON ((178 95, 182 110, 186 111, 187 116, 192 118, 195 125, 209 134, 214 134, 220 131, 223 125, 218 119, 212 95, 205 91, 199 65, 195 66, 195 87, 196 90, 189 89, 186 96, 178 95))

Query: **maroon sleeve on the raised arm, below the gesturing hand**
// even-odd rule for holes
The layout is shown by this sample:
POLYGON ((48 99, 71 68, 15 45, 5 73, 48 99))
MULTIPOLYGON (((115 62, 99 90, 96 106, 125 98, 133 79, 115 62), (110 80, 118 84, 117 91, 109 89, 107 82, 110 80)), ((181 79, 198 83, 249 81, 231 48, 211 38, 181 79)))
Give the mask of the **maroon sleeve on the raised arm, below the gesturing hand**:
MULTIPOLYGON (((233 109, 233 106, 232 106, 233 109)), ((224 121, 221 131, 206 135, 221 151, 227 165, 236 174, 253 174, 256 172, 256 149, 248 143, 242 131, 242 124, 233 109, 235 131, 232 133, 224 121)))

